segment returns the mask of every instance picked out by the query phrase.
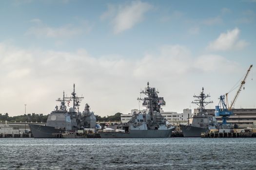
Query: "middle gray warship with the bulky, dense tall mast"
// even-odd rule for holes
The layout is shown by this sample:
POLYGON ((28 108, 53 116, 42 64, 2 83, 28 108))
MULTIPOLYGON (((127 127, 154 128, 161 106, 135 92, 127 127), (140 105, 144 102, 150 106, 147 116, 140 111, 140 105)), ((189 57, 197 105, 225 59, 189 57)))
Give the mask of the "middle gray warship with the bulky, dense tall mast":
POLYGON ((161 105, 165 105, 163 97, 158 97, 158 91, 151 88, 149 83, 145 87, 144 94, 147 97, 138 98, 142 105, 146 106, 148 113, 139 112, 132 116, 132 119, 120 126, 115 132, 98 132, 101 138, 156 138, 171 137, 174 126, 168 127, 166 119, 160 114, 161 105))

